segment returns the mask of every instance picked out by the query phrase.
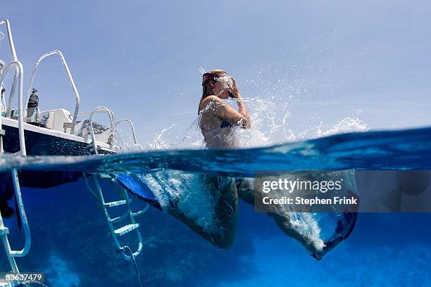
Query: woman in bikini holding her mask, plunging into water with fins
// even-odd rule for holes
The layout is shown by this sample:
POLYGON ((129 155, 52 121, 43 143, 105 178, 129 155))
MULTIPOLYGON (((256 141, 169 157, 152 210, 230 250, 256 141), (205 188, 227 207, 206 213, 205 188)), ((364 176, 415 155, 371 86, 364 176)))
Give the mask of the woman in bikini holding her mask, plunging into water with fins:
MULTIPOLYGON (((235 131, 249 129, 251 120, 235 79, 223 70, 211 70, 204 73, 202 87, 198 109, 199 127, 207 148, 238 147, 235 131), (228 98, 236 101, 237 110, 225 103, 224 100, 228 98)), ((316 172, 309 171, 292 171, 289 175, 294 180, 307 181, 313 181, 319 176, 316 172)), ((218 174, 175 174, 162 171, 145 177, 116 174, 115 179, 138 198, 180 219, 196 234, 224 249, 230 248, 235 239, 238 198, 254 205, 255 196, 260 198, 263 192, 255 190, 253 178, 218 174), (169 196, 163 196, 158 193, 160 190, 188 192, 171 192, 169 196), (205 203, 206 210, 210 212, 201 212, 202 203, 205 203)), ((294 212, 285 205, 268 205, 268 210, 263 211, 284 234, 299 241, 316 260, 320 260, 349 236, 357 215, 356 212, 334 212, 330 216, 335 218, 335 222, 330 225, 331 230, 321 233, 322 222, 313 212, 294 212)), ((329 224, 323 222, 325 223, 326 226, 329 224)))

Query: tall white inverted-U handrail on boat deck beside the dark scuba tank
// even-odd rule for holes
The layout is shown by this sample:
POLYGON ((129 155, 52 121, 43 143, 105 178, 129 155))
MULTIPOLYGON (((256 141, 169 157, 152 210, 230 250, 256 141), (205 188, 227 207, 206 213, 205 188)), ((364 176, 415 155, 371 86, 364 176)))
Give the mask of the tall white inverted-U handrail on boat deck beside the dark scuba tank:
POLYGON ((50 51, 47 53, 44 53, 36 62, 35 64, 35 68, 33 68, 32 71, 32 75, 30 77, 30 82, 28 84, 28 89, 27 89, 27 100, 25 101, 25 113, 27 116, 27 103, 30 99, 30 95, 31 95, 31 91, 32 91, 32 85, 33 82, 35 80, 35 75, 36 75, 36 70, 39 67, 39 64, 42 62, 42 60, 44 60, 45 58, 49 57, 49 56, 53 56, 53 55, 58 55, 60 57, 61 63, 63 64, 63 68, 66 72, 66 74, 68 75, 68 79, 70 82, 70 85, 72 86, 73 89, 73 94, 75 94, 75 112, 73 113, 73 119, 72 119, 72 127, 70 129, 70 134, 74 134, 75 133, 75 125, 76 125, 76 119, 77 119, 77 115, 78 115, 78 110, 80 109, 80 94, 78 94, 78 91, 76 89, 76 85, 75 82, 73 81, 73 77, 72 74, 70 74, 70 70, 68 67, 68 64, 65 61, 65 58, 63 56, 63 53, 61 53, 61 51, 58 50, 54 50, 54 51, 50 51))

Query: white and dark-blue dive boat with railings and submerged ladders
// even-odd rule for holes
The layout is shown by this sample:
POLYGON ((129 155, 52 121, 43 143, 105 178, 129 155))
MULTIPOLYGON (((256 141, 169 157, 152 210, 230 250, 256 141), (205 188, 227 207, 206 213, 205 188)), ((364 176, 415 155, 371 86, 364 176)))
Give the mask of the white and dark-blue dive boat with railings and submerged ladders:
MULTIPOLYGON (((114 113, 105 106, 98 106, 87 112, 80 112, 80 95, 68 68, 63 53, 59 50, 44 53, 36 61, 30 76, 27 93, 23 94, 23 64, 18 59, 13 42, 11 25, 7 19, 0 20, 0 27, 6 27, 6 38, 11 50, 12 61, 6 63, 0 56, 0 156, 80 156, 80 155, 115 155, 122 151, 118 145, 118 125, 125 122, 132 129, 133 141, 137 144, 135 127, 128 119, 115 121, 114 113), (39 110, 39 95, 37 89, 33 88, 33 82, 39 65, 48 57, 58 56, 68 77, 70 86, 75 95, 75 110, 73 113, 64 108, 39 110), (13 72, 13 81, 10 85, 4 83, 8 73, 13 72), (10 92, 7 93, 7 90, 10 92), (8 94, 8 98, 7 95, 8 94), (13 109, 18 94, 18 108, 13 109), (26 96, 24 101, 24 96, 26 96), (7 101, 6 101, 7 99, 7 101), (102 125, 93 120, 96 113, 104 113, 108 117, 109 125, 102 125)), ((0 38, 1 40, 1 38, 0 38)), ((139 224, 135 217, 142 215, 148 208, 145 205, 142 210, 133 212, 130 207, 130 198, 127 190, 117 179, 109 174, 84 174, 80 172, 44 172, 35 170, 12 170, 11 172, 0 172, 0 205, 5 206, 6 200, 15 196, 15 205, 18 207, 16 216, 24 231, 25 245, 21 250, 12 250, 8 241, 8 227, 0 213, 0 238, 6 250, 6 256, 11 266, 10 272, 20 274, 15 257, 23 257, 30 250, 31 236, 30 227, 25 215, 25 208, 20 192, 20 187, 49 188, 84 178, 90 191, 98 198, 101 204, 106 222, 111 231, 116 249, 126 260, 135 262, 135 257, 142 252, 142 238, 139 234, 139 224), (90 186, 90 179, 93 184, 90 186), (108 202, 104 199, 104 191, 99 181, 107 179, 114 184, 118 200, 108 202), (125 208, 122 215, 111 217, 110 208, 125 208), (128 246, 120 243, 120 237, 130 231, 137 234, 137 248, 132 251, 128 246)), ((7 205, 6 205, 7 206, 7 205)), ((9 207, 10 208, 10 207, 9 207)), ((15 280, 1 283, 0 286, 18 286, 23 281, 15 280)))

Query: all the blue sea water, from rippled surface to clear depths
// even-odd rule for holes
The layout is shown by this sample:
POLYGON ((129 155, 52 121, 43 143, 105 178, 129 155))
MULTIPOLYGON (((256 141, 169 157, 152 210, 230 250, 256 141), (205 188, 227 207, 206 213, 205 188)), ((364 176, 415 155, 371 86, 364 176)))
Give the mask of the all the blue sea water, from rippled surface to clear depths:
MULTIPOLYGON (((237 177, 255 170, 430 170, 430 143, 431 128, 426 128, 239 151, 8 158, 1 167, 237 177)), ((23 198, 32 250, 18 259, 22 270, 44 270, 51 286, 137 286, 132 264, 115 253, 101 208, 82 181, 23 189, 23 198)), ((245 203, 239 205, 237 236, 229 250, 214 248, 177 219, 151 208, 139 218, 145 250, 137 265, 144 286, 431 286, 430 219, 430 214, 359 214, 351 236, 317 262, 270 217, 245 203)), ((15 221, 6 224, 18 248, 22 241, 15 221)))

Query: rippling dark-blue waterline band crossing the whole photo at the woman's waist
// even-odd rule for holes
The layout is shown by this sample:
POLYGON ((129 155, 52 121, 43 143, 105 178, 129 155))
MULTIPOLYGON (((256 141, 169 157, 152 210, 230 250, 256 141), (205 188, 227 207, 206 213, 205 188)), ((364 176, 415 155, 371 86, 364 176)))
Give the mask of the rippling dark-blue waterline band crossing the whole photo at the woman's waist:
POLYGON ((336 134, 247 149, 170 150, 108 157, 0 158, 13 167, 79 172, 146 173, 158 170, 251 177, 256 170, 431 170, 431 127, 336 134))

